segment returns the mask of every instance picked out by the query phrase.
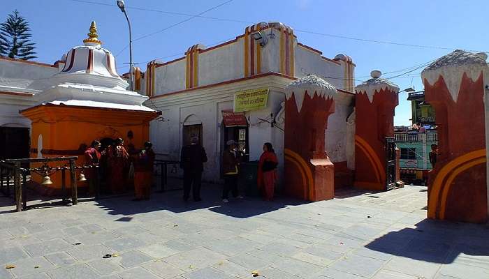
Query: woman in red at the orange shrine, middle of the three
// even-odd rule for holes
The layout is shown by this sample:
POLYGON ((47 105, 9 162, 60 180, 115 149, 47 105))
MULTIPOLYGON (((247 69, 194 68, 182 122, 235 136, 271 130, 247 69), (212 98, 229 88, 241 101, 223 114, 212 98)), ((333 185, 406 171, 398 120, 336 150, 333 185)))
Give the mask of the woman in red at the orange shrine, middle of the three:
POLYGON ((122 144, 124 140, 119 137, 115 144, 107 149, 108 184, 112 193, 122 193, 126 190, 129 154, 122 144))

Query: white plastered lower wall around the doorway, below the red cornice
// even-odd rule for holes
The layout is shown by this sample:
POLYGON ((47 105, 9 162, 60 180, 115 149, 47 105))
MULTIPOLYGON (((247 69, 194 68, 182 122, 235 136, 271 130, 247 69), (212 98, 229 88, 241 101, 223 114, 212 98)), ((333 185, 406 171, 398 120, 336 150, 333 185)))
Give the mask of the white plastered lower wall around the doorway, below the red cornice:
MULTIPOLYGON (((163 121, 152 121, 149 126, 150 138, 154 142, 156 153, 166 153, 172 160, 180 160, 182 148, 183 122, 188 116, 200 119, 203 126, 203 146, 209 159, 205 163, 203 179, 217 182, 220 179, 221 163, 221 123, 222 110, 233 108, 233 94, 244 89, 269 88, 268 106, 263 110, 246 112, 249 116, 249 160, 258 160, 265 142, 271 142, 280 160, 279 172, 283 173, 284 133, 272 128, 270 114, 277 115, 284 101, 283 88, 290 82, 282 77, 261 77, 256 80, 225 84, 209 89, 197 89, 170 96, 156 98, 145 105, 162 112, 163 121), (281 84, 277 84, 279 81, 281 84), (278 87, 277 87, 278 86, 278 87)), ((282 175, 281 175, 282 176, 282 175)))

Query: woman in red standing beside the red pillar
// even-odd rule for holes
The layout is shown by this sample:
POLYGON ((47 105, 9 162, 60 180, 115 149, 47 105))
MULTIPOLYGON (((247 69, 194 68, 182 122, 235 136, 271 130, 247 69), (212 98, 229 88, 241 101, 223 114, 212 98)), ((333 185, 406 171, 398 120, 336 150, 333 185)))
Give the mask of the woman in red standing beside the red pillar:
POLYGON ((272 200, 277 182, 277 165, 279 160, 275 155, 272 144, 266 142, 263 144, 263 153, 258 163, 258 188, 262 189, 263 199, 272 200))

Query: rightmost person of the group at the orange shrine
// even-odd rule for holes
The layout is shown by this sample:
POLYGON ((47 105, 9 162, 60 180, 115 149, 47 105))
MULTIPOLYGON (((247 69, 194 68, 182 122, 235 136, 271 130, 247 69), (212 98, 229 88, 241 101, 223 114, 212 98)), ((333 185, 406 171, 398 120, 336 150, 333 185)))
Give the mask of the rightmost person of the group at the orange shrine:
POLYGON ((145 142, 145 149, 138 153, 134 161, 134 192, 135 201, 149 199, 153 184, 153 164, 155 154, 151 142, 145 142))

